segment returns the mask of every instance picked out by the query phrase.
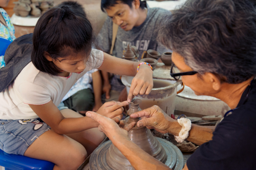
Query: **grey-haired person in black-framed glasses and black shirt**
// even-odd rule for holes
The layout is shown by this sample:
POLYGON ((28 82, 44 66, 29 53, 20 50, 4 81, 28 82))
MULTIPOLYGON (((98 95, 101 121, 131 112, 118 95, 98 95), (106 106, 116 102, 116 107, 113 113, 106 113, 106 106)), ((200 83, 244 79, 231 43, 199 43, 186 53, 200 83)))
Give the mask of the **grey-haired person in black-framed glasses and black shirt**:
MULTIPOLYGON (((256 11, 248 0, 188 0, 173 12, 160 38, 173 50, 180 73, 171 75, 197 95, 221 99, 232 109, 215 127, 191 126, 188 141, 201 145, 183 170, 256 169, 256 11)), ((170 169, 127 138, 132 124, 119 128, 99 114, 87 116, 135 169, 170 169), (115 135, 112 135, 115 134, 115 135)), ((137 126, 179 136, 182 126, 159 107, 134 113, 137 126)))

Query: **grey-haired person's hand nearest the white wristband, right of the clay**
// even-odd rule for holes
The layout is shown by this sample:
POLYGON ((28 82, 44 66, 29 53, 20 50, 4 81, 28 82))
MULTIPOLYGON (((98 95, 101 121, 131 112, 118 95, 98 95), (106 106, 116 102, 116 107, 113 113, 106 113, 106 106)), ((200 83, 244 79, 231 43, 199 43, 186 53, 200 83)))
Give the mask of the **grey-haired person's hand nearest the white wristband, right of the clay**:
POLYGON ((137 122, 138 127, 147 126, 148 129, 154 128, 160 133, 168 133, 170 123, 175 121, 156 105, 142 111, 133 113, 130 115, 130 117, 141 117, 141 120, 137 122))

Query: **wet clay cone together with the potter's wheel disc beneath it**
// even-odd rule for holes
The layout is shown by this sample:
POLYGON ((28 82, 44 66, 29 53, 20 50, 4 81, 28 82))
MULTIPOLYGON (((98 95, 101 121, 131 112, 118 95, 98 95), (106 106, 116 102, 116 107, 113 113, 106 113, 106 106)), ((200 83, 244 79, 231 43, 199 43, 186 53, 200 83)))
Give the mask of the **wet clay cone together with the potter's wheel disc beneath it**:
MULTIPOLYGON (((127 111, 128 115, 140 111, 140 99, 132 99, 130 109, 127 111)), ((126 123, 131 121, 138 122, 140 118, 125 118, 126 123)), ((130 140, 137 144, 145 152, 165 163, 168 167, 174 170, 181 170, 184 162, 182 153, 176 147, 171 148, 173 144, 161 138, 156 138, 151 131, 146 127, 138 127, 137 125, 128 132, 130 140), (168 145, 168 143, 170 143, 168 145), (177 152, 176 152, 177 151, 177 152), (178 153, 178 154, 176 154, 178 153), (178 160, 179 159, 179 160, 178 160)), ((173 145, 174 146, 174 145, 173 145)), ((125 156, 108 141, 95 149, 90 157, 90 170, 134 170, 131 163, 125 156)))

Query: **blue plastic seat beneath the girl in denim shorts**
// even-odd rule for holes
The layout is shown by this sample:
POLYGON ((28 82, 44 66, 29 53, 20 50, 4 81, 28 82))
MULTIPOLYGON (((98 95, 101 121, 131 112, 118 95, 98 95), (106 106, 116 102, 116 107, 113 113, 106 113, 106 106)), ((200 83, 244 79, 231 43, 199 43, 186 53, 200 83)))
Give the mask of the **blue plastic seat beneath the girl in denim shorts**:
POLYGON ((5 167, 5 170, 52 170, 54 163, 22 155, 8 154, 0 149, 0 166, 5 167))

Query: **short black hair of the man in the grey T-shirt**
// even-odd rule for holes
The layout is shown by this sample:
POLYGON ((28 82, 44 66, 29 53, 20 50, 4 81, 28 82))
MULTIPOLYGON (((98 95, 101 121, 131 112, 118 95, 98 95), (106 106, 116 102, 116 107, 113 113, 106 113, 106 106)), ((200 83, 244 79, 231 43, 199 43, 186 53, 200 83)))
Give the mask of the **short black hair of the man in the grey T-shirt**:
MULTIPOLYGON (((103 12, 105 12, 105 9, 109 9, 109 7, 112 7, 112 6, 114 6, 115 4, 118 4, 118 3, 127 4, 131 8, 133 1, 134 0, 101 0, 101 10, 103 12)), ((147 8, 146 1, 139 0, 139 2, 140 2, 140 8, 141 9, 147 8)))

